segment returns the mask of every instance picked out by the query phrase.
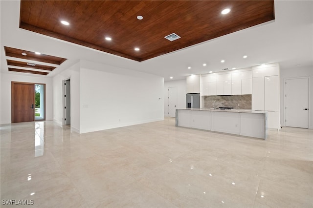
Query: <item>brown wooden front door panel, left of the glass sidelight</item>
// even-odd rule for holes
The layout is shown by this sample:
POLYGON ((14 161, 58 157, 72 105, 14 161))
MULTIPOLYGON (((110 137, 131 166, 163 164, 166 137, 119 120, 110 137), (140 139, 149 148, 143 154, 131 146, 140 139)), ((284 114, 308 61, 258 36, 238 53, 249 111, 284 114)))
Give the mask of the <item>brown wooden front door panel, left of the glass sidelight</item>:
POLYGON ((35 120, 35 84, 12 82, 12 123, 35 120))

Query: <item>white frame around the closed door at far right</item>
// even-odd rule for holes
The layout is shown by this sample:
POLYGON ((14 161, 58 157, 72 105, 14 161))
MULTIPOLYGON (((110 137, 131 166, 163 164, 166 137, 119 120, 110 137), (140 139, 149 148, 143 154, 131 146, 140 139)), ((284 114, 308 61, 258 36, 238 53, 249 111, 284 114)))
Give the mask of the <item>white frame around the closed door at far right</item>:
POLYGON ((305 77, 290 77, 290 78, 284 78, 284 126, 286 127, 286 82, 287 80, 296 80, 296 79, 304 79, 304 78, 308 78, 308 128, 312 128, 311 126, 311 77, 309 76, 305 76, 305 77))

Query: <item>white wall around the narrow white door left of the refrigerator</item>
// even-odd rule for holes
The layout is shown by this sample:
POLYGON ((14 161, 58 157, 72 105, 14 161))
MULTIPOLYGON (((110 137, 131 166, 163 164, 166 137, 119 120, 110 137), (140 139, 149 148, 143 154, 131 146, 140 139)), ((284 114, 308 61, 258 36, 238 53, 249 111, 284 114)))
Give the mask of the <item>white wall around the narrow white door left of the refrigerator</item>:
POLYGON ((174 80, 164 83, 164 116, 168 116, 168 88, 177 87, 177 109, 186 108, 186 80, 174 80))

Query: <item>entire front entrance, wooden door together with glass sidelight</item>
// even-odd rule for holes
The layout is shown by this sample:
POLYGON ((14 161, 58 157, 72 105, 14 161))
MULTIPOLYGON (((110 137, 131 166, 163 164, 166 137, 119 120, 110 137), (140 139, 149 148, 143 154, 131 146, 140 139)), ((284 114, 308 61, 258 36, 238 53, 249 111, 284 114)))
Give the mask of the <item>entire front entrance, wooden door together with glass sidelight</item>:
POLYGON ((11 82, 11 122, 45 120, 45 84, 11 82))

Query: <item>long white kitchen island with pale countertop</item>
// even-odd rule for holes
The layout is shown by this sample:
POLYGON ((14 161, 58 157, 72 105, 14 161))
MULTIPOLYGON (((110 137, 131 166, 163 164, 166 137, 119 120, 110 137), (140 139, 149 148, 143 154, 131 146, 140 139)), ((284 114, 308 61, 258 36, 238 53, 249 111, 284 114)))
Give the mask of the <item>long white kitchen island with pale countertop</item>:
POLYGON ((266 139, 267 113, 210 108, 176 109, 176 126, 266 139))

